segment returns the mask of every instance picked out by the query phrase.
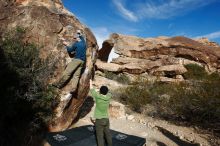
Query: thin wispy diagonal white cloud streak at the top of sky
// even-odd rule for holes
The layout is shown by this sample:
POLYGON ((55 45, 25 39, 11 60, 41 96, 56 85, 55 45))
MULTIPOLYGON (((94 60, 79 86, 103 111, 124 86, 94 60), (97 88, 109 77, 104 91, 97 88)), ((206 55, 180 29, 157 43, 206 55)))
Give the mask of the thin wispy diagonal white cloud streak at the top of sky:
POLYGON ((128 9, 125 8, 123 4, 123 0, 113 0, 113 3, 115 4, 118 11, 124 18, 134 22, 138 21, 137 16, 135 16, 135 14, 132 11, 129 11, 128 9))

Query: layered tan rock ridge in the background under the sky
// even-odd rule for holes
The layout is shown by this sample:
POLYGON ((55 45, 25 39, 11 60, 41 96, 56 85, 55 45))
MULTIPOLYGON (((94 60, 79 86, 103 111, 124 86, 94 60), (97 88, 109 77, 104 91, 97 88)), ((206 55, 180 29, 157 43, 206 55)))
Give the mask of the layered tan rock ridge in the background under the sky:
POLYGON ((99 51, 96 66, 100 71, 159 76, 161 80, 183 80, 186 64, 204 66, 207 71, 219 71, 220 46, 207 39, 186 37, 138 38, 112 34, 99 51), (119 55, 107 63, 109 52, 119 55), (114 67, 113 67, 114 66, 114 67))

